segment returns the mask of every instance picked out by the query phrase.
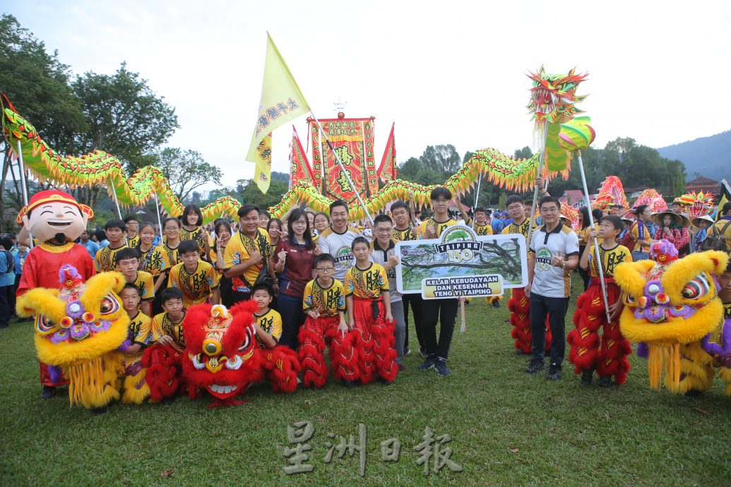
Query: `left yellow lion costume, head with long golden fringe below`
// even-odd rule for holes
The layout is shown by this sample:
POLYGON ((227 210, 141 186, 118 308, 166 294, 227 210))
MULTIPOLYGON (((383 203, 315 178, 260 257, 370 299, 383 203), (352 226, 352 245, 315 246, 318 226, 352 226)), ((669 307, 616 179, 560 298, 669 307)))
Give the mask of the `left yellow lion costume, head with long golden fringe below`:
POLYGON ((118 349, 129 317, 116 294, 124 276, 105 272, 84 283, 74 266, 64 265, 57 277, 61 289, 34 288, 20 296, 18 314, 35 316, 38 358, 69 378, 71 404, 103 408, 119 399, 124 373, 118 349))

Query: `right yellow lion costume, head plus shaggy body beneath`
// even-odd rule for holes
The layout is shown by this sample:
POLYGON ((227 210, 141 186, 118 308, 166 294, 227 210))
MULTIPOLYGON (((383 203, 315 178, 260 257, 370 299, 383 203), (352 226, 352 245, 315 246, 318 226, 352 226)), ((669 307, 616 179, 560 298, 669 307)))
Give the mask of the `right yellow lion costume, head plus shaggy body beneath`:
POLYGON ((724 322, 715 277, 729 256, 709 250, 678 259, 667 240, 654 244, 651 255, 656 261, 620 264, 614 276, 625 304, 621 331, 640 343, 637 355, 648 358, 650 387, 660 388, 664 372, 673 393, 700 394, 713 385, 714 362, 721 362, 721 377, 729 382, 731 325, 724 322))

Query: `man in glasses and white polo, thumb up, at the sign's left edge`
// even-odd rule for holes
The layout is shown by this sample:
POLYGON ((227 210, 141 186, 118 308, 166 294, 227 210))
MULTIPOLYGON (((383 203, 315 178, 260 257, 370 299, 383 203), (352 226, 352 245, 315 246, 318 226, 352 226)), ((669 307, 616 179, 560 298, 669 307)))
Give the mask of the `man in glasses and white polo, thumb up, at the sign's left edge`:
POLYGON ((393 221, 388 215, 378 215, 374 220, 376 238, 371 242, 371 261, 380 264, 388 277, 390 289, 391 315, 395 321, 396 365, 398 372, 404 372, 404 340, 406 339, 406 322, 404 321, 404 302, 402 295, 396 291, 396 269, 398 256, 395 255, 396 242, 393 239, 393 221))

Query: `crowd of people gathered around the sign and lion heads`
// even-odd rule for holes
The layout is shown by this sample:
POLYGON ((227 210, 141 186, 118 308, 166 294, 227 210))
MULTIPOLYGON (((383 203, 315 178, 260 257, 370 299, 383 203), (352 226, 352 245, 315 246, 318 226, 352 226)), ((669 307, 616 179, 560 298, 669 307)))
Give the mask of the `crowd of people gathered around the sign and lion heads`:
MULTIPOLYGON (((702 250, 708 238, 731 248, 731 203, 718 209, 717 221, 709 216, 690 221, 680 205, 654 214, 645 205, 625 209, 614 204, 606 214, 592 212, 594 226, 583 207, 574 228, 562 215, 561 202, 548 194, 542 180, 536 184, 542 196, 536 218, 531 218, 532 202, 518 195, 507 199, 504 211, 475 207, 468 214, 447 188, 436 188, 428 218, 413 199, 393 202, 363 226, 349 218, 341 201, 330 204, 327 213, 295 207, 282 218, 243 204, 238 221, 219 219, 204 226, 200 208, 190 204, 179 218, 165 218, 162 229, 128 215, 107 221, 103 229, 84 231, 78 243, 94 259, 96 272, 118 270, 124 275, 121 301, 132 323, 131 342, 140 350, 154 342, 182 348, 186 308, 194 304, 230 307, 253 300, 260 347, 282 345, 297 351, 303 385, 322 387, 328 375, 326 348, 333 376, 346 386, 377 379, 393 382, 406 371, 404 357, 412 353, 409 329, 423 358, 417 369, 450 375, 447 361, 459 300, 398 293, 397 242, 438 238, 459 223, 472 226, 478 235, 532 234, 528 285, 513 289, 508 302, 516 353, 530 356, 526 372, 544 369, 548 355, 547 378, 561 377, 570 276, 577 270, 585 294, 579 297, 576 328, 568 336, 569 361, 582 383, 591 383, 594 372, 602 385, 613 379, 623 383, 631 348, 618 330, 622 302, 613 270, 621 262, 651 258, 652 245, 661 239, 672 243, 680 256, 702 250), (608 317, 582 301, 599 296, 600 277, 607 285, 608 317), (598 324, 589 323, 592 312, 598 324), (346 359, 354 356, 355 361, 346 359)), ((23 235, 1 240, 0 327, 8 326, 15 307, 29 252, 29 242, 23 240, 23 235)), ((731 302, 731 290, 724 292, 731 302)), ((53 387, 46 386, 43 396, 53 396, 53 387)))

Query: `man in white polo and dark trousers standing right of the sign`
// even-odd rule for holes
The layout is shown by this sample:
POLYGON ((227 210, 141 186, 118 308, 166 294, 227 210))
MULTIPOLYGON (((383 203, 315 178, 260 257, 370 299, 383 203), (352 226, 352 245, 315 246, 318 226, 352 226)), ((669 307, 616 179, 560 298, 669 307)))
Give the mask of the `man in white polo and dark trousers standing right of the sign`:
POLYGON ((561 202, 545 196, 539 202, 543 226, 534 231, 528 258, 528 285, 525 293, 531 300, 531 364, 526 372, 535 374, 545 367, 545 322, 552 335, 548 380, 561 378, 561 363, 566 350, 566 310, 571 293, 571 271, 579 264, 579 239, 564 226, 561 202))

